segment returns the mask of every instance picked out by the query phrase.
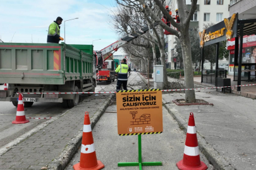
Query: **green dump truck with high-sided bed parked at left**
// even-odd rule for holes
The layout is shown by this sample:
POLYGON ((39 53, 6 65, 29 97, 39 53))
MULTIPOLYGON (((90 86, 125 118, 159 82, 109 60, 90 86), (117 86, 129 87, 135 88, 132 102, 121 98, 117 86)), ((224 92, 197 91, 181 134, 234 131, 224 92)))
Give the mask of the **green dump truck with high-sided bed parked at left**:
POLYGON ((95 91, 93 46, 0 43, 0 82, 8 83, 8 90, 0 91, 0 101, 11 101, 14 106, 18 105, 18 93, 24 93, 25 107, 34 102, 73 107, 79 102, 79 94, 58 93, 95 91))

